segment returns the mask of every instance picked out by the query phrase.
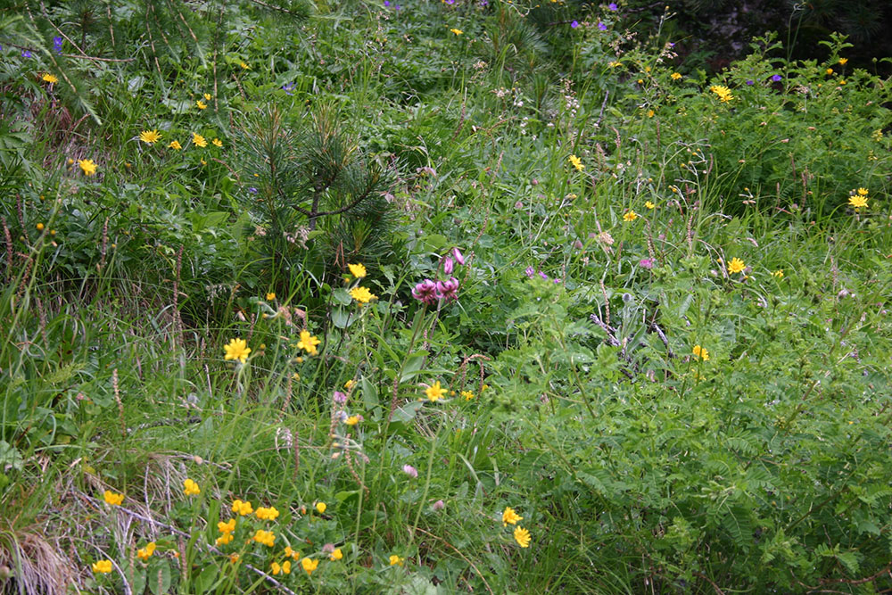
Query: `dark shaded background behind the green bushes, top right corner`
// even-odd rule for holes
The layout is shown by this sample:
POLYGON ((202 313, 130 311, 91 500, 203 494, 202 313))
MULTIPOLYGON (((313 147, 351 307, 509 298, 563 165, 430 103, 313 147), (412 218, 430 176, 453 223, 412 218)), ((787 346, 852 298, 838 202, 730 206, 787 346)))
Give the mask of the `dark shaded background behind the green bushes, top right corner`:
POLYGON ((794 59, 824 60, 828 49, 820 42, 834 31, 847 35, 849 68, 863 68, 888 76, 892 64, 892 2, 889 0, 632 0, 621 11, 635 18, 636 29, 648 35, 657 29, 668 5, 672 19, 663 30, 677 42, 676 51, 690 68, 721 70, 747 54, 749 43, 766 31, 777 31, 794 59))

